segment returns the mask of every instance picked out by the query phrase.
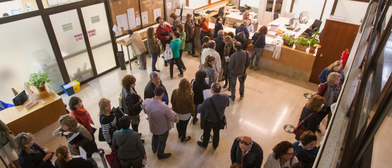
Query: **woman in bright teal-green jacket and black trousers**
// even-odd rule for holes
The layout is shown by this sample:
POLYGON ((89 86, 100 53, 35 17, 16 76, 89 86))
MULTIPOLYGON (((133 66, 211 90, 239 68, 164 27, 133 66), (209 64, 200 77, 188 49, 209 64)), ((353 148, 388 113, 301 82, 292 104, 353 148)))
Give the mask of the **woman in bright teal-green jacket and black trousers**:
POLYGON ((180 40, 180 33, 178 31, 174 31, 173 33, 173 40, 170 42, 170 47, 173 52, 173 58, 170 61, 170 79, 173 79, 173 65, 174 62, 176 63, 178 70, 180 70, 180 74, 178 76, 183 77, 182 73, 182 68, 178 64, 178 58, 180 57, 180 46, 181 46, 181 40, 180 40))

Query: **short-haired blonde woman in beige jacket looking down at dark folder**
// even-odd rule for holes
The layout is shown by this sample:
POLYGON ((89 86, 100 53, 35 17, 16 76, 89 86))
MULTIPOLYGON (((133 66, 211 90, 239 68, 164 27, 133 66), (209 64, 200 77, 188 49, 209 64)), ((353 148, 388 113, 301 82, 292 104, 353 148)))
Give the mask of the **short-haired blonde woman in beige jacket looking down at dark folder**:
POLYGON ((89 131, 84 128, 82 124, 78 124, 76 118, 71 114, 60 116, 58 119, 60 128, 53 131, 53 136, 65 137, 67 139, 68 147, 71 149, 72 155, 79 154, 79 146, 87 152, 87 160, 96 166, 96 162, 91 156, 97 151, 94 147, 94 140, 89 131))

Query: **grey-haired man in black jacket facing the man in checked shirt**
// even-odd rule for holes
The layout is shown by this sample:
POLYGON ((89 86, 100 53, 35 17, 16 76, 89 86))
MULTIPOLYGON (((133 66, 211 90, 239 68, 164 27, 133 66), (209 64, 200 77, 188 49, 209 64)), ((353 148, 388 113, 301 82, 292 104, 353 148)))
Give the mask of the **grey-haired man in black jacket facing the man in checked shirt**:
POLYGON ((151 99, 153 98, 154 95, 154 89, 157 86, 162 86, 163 89, 165 89, 165 93, 162 98, 162 102, 165 102, 165 104, 169 105, 169 95, 167 94, 165 86, 163 86, 161 77, 158 72, 152 71, 150 73, 150 81, 147 83, 146 87, 144 88, 144 100, 145 99, 151 99))

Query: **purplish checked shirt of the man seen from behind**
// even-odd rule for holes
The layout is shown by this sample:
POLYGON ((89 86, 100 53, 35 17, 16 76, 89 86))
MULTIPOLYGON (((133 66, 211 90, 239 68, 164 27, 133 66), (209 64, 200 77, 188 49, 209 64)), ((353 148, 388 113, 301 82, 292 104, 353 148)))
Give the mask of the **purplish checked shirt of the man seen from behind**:
POLYGON ((145 99, 143 110, 149 117, 150 131, 154 135, 161 135, 169 130, 169 121, 176 121, 169 106, 160 99, 145 99))

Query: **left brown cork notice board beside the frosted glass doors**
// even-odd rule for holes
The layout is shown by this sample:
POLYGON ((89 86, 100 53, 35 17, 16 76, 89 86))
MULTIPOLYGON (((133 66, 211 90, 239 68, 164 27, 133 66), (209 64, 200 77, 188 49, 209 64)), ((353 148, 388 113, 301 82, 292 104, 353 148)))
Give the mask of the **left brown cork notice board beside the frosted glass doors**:
MULTIPOLYGON (((111 8, 111 15, 112 15, 113 24, 115 24, 117 26, 119 25, 119 23, 117 23, 116 16, 123 15, 123 14, 128 16, 127 10, 130 8, 134 9, 133 16, 135 16, 136 18, 140 17, 139 0, 114 0, 114 1, 109 2, 109 5, 111 8)), ((138 21, 136 20, 136 22, 138 22, 138 21)), ((128 19, 127 19, 127 23, 129 24, 128 19)), ((112 26, 114 26, 114 25, 112 25, 112 26)), ((140 29, 140 28, 142 28, 142 25, 138 25, 135 28, 133 28, 132 30, 136 30, 136 29, 140 29)), ((122 34, 127 34, 127 30, 128 29, 124 30, 124 28, 122 27, 121 28, 122 34)))

